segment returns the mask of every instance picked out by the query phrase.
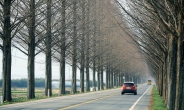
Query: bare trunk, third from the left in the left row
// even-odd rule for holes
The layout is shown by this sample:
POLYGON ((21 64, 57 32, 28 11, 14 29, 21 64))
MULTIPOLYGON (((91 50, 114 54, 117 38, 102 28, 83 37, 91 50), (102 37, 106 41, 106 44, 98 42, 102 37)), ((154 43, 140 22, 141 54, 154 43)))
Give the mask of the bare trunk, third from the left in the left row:
POLYGON ((52 95, 52 60, 51 60, 51 3, 47 0, 47 37, 46 37, 46 72, 45 72, 45 95, 52 95), (49 93, 49 94, 48 94, 49 93))

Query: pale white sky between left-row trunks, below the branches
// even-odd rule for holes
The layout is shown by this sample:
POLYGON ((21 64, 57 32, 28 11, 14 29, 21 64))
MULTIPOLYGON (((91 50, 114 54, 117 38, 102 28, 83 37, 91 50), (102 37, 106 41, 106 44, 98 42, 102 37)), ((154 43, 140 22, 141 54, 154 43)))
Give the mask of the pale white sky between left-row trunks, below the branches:
MULTIPOLYGON (((66 79, 71 79, 72 68, 66 65, 66 79)), ((27 56, 19 50, 12 48, 12 79, 27 78, 27 56)), ((45 55, 39 54, 35 58, 35 78, 45 78, 45 55)), ((84 77, 85 78, 85 77, 84 77)), ((0 51, 0 79, 2 79, 2 51, 0 51)), ((59 79, 59 63, 52 63, 52 79, 59 79)), ((80 71, 77 69, 77 79, 80 79, 80 71)), ((92 80, 92 71, 90 70, 92 80)), ((96 76, 97 79, 97 76, 96 76)), ((105 74, 104 74, 105 81, 105 74)))

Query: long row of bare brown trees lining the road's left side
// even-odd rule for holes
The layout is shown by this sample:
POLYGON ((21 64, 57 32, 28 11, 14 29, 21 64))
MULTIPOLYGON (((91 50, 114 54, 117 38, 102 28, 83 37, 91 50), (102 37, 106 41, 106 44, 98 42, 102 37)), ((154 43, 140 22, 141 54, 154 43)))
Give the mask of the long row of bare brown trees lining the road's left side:
MULTIPOLYGON (((90 79, 93 80, 93 90, 96 87, 103 90, 104 83, 106 89, 113 88, 121 86, 124 76, 138 78, 146 73, 144 63, 131 63, 142 62, 135 58, 143 57, 139 52, 129 52, 136 52, 137 47, 128 43, 134 40, 122 31, 122 27, 128 25, 119 24, 124 18, 119 16, 121 11, 111 0, 4 0, 0 5, 3 9, 0 48, 3 52, 4 101, 12 100, 11 47, 28 58, 28 99, 36 97, 35 57, 40 53, 44 53, 45 57, 46 96, 52 95, 52 64, 55 62, 60 66, 59 95, 65 94, 66 64, 72 67, 72 94, 77 92, 78 69, 80 92, 90 91, 90 79)), ((158 60, 153 62, 163 63, 158 60)))

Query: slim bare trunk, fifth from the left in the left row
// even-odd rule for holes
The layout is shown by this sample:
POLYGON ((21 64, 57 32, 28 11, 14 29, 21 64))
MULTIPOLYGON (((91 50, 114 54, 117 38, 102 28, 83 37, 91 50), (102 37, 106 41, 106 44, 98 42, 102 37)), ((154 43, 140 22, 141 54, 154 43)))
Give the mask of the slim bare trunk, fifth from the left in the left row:
POLYGON ((73 0, 73 45, 72 45, 72 49, 73 49, 73 54, 72 54, 72 87, 71 87, 71 94, 75 94, 76 93, 76 63, 77 63, 77 1, 73 0))

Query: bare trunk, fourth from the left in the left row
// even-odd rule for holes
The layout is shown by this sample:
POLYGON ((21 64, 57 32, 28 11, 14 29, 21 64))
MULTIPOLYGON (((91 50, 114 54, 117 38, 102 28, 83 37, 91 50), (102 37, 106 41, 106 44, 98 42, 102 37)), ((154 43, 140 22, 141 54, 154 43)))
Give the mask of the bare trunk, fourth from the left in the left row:
POLYGON ((65 30, 66 30, 66 23, 65 23, 65 6, 66 0, 62 0, 61 6, 61 46, 60 46, 60 85, 59 85, 59 95, 65 94, 65 30))

